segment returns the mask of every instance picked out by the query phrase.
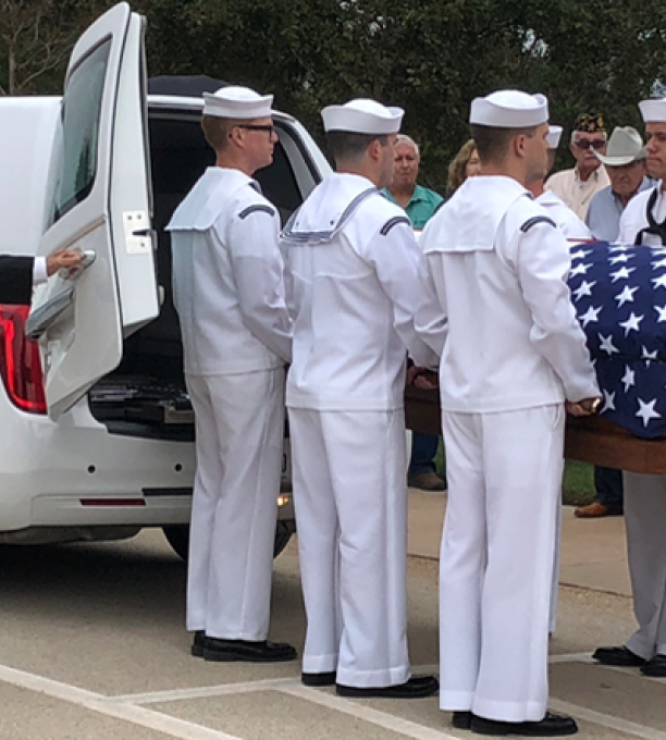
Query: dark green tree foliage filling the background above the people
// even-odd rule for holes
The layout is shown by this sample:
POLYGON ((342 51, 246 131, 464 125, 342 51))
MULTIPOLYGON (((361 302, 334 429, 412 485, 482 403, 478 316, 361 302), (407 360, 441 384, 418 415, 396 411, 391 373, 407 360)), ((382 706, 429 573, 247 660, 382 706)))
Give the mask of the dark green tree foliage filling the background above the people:
MULTIPOLYGON (((8 0, 20 3, 22 0, 8 0)), ((109 0, 66 7, 78 30, 109 0)), ((0 0, 0 28, 3 4, 0 0)), ((406 109, 422 145, 422 180, 443 190, 467 138, 470 100, 498 87, 542 91, 552 121, 579 112, 641 127, 638 100, 666 83, 662 0, 134 0, 148 18, 150 74, 208 74, 275 94, 321 136, 319 110, 369 96, 406 109)), ((69 27, 69 26, 67 26, 69 27)), ((57 91, 62 79, 34 78, 57 91)), ((1 79, 0 79, 1 82, 1 79)), ((571 160, 563 148, 562 165, 571 160)))

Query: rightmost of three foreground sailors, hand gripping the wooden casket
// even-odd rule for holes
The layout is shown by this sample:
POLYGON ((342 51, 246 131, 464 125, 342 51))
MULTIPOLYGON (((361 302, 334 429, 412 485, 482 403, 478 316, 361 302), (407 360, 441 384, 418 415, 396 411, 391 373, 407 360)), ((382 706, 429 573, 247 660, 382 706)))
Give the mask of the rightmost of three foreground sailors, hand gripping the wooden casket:
POLYGON ((482 735, 577 730, 546 713, 548 608, 565 399, 587 415, 599 388, 566 284, 566 239, 526 188, 546 171, 547 119, 541 95, 474 99, 481 172, 420 244, 417 329, 427 341, 447 330, 440 706, 482 735))

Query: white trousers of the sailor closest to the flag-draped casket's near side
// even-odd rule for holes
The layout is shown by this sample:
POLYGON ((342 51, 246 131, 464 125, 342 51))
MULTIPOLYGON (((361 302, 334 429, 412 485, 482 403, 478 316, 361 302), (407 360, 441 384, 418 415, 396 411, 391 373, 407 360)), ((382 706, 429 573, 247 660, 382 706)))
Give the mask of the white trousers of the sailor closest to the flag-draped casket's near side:
POLYGON ((442 710, 544 716, 564 422, 560 405, 443 415, 442 710))

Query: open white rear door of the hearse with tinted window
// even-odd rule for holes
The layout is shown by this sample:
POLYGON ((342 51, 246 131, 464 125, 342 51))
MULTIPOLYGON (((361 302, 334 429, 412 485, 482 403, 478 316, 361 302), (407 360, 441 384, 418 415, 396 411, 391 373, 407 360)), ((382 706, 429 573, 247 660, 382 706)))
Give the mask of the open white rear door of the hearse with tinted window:
POLYGON ((39 254, 86 254, 34 300, 49 416, 114 370, 123 338, 159 313, 151 230, 144 18, 122 2, 76 44, 65 77, 39 254))

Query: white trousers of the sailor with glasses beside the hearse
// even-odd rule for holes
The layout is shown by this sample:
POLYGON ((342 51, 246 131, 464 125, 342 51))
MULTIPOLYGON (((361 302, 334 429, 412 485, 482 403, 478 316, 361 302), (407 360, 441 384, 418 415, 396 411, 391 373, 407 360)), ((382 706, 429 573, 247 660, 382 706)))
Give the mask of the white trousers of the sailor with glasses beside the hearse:
POLYGON ((284 434, 284 370, 187 375, 197 474, 187 629, 266 640, 284 434))

